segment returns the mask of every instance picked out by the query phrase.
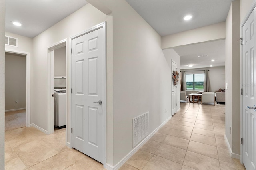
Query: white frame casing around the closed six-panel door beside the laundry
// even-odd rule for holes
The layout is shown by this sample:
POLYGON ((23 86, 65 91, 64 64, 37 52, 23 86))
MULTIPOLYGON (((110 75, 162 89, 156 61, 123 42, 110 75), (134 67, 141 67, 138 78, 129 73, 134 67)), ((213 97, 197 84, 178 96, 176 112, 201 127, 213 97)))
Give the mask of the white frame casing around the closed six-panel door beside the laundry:
MULTIPOLYGON (((70 44, 72 44, 72 40, 73 39, 75 39, 75 38, 77 38, 77 37, 80 37, 80 36, 82 36, 82 35, 84 35, 84 34, 88 34, 88 33, 90 33, 90 32, 93 32, 94 30, 98 30, 99 28, 103 28, 104 29, 104 92, 103 92, 103 100, 105 101, 105 105, 102 107, 102 109, 103 109, 103 115, 104 115, 104 125, 103 125, 103 127, 104 127, 104 130, 103 130, 103 153, 104 153, 104 158, 103 158, 103 166, 104 166, 104 168, 106 168, 106 103, 107 103, 107 101, 106 101, 106 22, 102 22, 102 23, 100 23, 100 24, 98 24, 98 25, 96 25, 96 26, 94 26, 94 27, 92 27, 92 28, 90 28, 90 29, 88 29, 88 30, 86 30, 86 31, 84 31, 84 32, 81 32, 81 33, 79 33, 79 34, 76 34, 75 36, 72 36, 72 37, 70 37, 70 44)), ((70 49, 71 50, 71 49, 70 49)), ((68 75, 72 75, 72 54, 71 54, 71 52, 69 53, 69 67, 70 67, 70 69, 69 69, 69 74, 68 75)), ((70 80, 71 80, 71 78, 70 78, 70 80)), ((71 85, 71 81, 69 82, 70 83, 70 85, 71 85)), ((72 87, 71 87, 72 88, 72 87)), ((70 123, 72 123, 72 100, 71 100, 71 93, 70 93, 70 102, 68 103, 68 107, 69 107, 69 111, 70 111, 70 117, 69 117, 69 119, 71 120, 70 121, 70 123)), ((72 125, 71 125, 71 127, 72 127, 72 125)), ((72 135, 72 134, 71 134, 72 135)), ((71 139, 72 139, 72 137, 71 137, 71 139)), ((70 140, 70 147, 72 148, 72 140, 70 140)))

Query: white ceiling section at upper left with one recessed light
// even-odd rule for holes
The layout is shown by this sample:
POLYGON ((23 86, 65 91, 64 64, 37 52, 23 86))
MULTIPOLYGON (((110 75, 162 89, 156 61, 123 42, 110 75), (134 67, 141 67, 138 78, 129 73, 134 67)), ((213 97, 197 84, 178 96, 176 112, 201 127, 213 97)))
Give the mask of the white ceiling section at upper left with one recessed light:
POLYGON ((6 31, 33 38, 86 4, 85 0, 6 0, 6 31))

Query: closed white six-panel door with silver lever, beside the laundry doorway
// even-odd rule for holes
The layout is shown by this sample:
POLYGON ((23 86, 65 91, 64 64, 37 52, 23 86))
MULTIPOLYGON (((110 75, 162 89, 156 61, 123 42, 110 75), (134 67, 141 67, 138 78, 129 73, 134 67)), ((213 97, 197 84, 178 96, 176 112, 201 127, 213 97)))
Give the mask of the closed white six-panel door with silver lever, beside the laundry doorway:
POLYGON ((72 40, 72 147, 104 160, 104 28, 72 40))

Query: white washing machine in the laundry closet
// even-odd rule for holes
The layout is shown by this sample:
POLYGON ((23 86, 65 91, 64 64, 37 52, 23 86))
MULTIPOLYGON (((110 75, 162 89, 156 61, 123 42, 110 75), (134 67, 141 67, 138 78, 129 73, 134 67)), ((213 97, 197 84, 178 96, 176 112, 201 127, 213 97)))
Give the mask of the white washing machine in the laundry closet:
POLYGON ((63 89, 54 91, 54 126, 66 127, 66 90, 63 89))

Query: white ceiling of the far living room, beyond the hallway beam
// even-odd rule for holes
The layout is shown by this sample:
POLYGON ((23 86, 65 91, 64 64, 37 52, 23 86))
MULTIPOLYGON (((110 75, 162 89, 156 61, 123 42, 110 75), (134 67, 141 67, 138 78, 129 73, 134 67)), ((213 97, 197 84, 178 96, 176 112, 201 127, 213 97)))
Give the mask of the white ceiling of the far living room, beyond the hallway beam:
POLYGON ((180 69, 218 67, 225 65, 225 40, 173 48, 180 55, 180 69), (206 57, 198 57, 207 55, 206 57), (214 59, 215 61, 211 61, 214 59), (192 64, 193 67, 188 67, 192 64))

